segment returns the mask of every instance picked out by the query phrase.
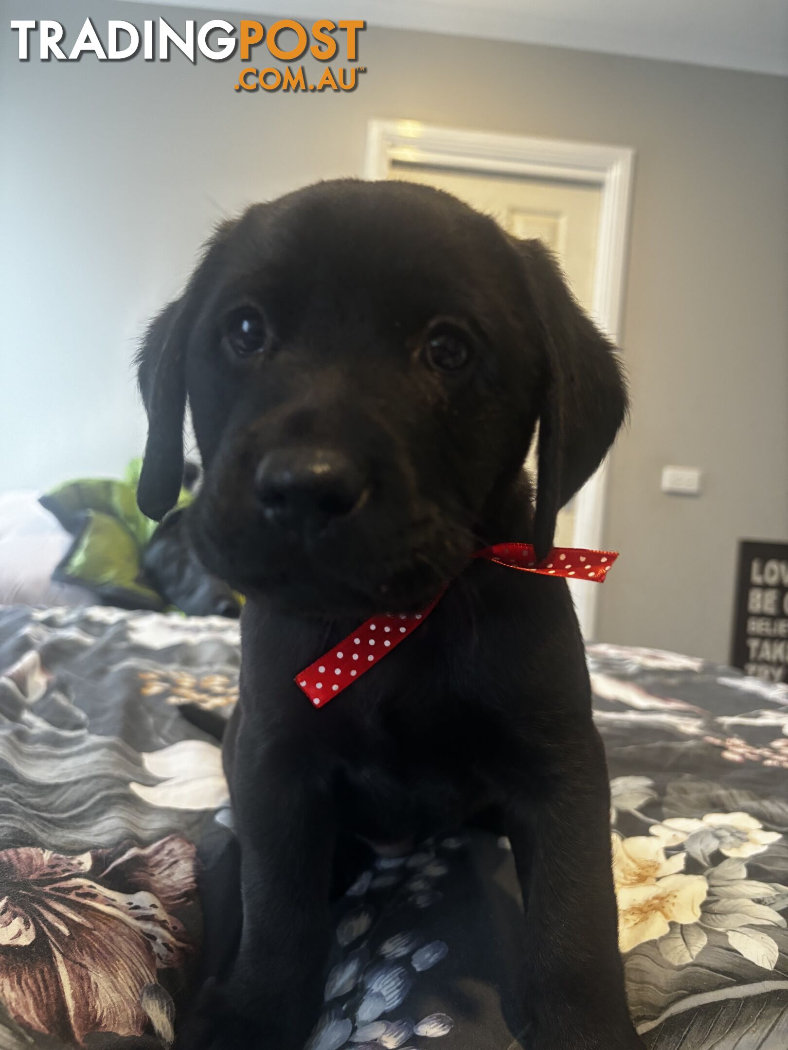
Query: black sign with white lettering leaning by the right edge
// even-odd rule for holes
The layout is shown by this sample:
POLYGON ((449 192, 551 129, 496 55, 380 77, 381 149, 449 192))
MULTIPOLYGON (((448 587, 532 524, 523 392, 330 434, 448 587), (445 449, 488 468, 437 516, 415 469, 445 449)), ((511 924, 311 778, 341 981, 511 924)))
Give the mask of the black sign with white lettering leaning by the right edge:
POLYGON ((739 544, 730 663, 766 681, 788 681, 788 543, 739 544))

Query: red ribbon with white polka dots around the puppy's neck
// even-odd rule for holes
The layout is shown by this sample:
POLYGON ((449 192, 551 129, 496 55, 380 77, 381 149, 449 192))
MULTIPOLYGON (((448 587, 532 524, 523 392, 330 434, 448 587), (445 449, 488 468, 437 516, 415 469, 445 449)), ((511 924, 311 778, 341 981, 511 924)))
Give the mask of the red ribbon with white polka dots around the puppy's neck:
MULTIPOLYGON (((537 562, 530 543, 497 543, 493 547, 477 550, 473 556, 519 569, 521 572, 603 583, 619 555, 614 550, 554 547, 545 559, 537 562)), ((295 684, 314 707, 324 707, 405 642, 427 620, 442 596, 441 591, 421 612, 388 612, 370 617, 347 638, 343 638, 339 645, 324 653, 300 674, 296 674, 295 684)))

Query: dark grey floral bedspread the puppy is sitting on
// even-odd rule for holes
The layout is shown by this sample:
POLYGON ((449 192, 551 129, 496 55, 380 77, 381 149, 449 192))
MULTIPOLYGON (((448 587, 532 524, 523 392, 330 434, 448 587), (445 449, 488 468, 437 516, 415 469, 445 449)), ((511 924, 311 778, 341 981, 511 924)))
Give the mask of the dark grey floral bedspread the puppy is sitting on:
MULTIPOLYGON (((0 609, 0 1050, 171 1044, 195 843, 231 824, 219 748, 178 706, 229 710, 237 631, 0 609)), ((785 1050, 788 687, 652 650, 588 663, 638 1030, 654 1050, 785 1050)), ((526 1050, 521 950, 504 839, 380 859, 337 907, 310 1050, 526 1050)))

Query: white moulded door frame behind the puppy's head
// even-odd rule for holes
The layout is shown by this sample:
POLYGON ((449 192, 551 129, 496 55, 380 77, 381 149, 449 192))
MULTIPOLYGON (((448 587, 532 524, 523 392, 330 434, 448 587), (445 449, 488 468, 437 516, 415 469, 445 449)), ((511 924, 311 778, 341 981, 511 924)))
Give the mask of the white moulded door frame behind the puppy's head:
MULTIPOLYGON (((392 161, 462 168, 465 171, 560 178, 599 186, 602 201, 592 314, 600 328, 618 343, 623 313, 634 149, 431 127, 419 121, 370 121, 365 177, 387 178, 392 161)), ((602 546, 606 485, 605 460, 578 492, 573 541, 576 546, 602 546)), ((595 636, 599 587, 575 581, 571 581, 569 586, 583 636, 590 640, 595 636)))

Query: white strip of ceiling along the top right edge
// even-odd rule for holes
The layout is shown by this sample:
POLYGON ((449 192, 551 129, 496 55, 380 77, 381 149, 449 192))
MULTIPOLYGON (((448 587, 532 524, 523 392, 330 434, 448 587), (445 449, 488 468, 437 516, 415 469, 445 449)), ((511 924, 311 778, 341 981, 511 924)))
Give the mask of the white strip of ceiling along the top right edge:
MULTIPOLYGON (((143 0, 134 0, 143 2, 143 0)), ((788 76, 788 0, 167 0, 788 76)))

